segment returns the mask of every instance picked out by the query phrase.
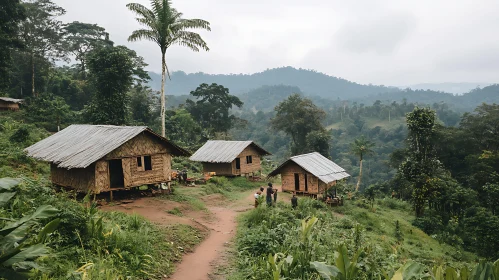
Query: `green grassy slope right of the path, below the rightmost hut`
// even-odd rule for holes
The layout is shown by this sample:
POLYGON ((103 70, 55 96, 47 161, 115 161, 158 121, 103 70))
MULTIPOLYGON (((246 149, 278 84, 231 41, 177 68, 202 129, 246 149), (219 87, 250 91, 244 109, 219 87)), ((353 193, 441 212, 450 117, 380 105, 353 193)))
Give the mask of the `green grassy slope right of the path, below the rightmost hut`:
POLYGON ((297 260, 286 268, 288 278, 319 279, 306 264, 334 263, 335 248, 341 244, 350 254, 355 248, 364 250, 361 261, 369 265, 369 270, 362 272, 363 279, 394 271, 409 259, 429 267, 462 267, 477 260, 473 253, 441 244, 412 226, 413 219, 410 205, 393 199, 376 201, 374 209, 362 200, 347 200, 344 206, 330 208, 303 197, 295 210, 283 202, 272 208, 262 205, 239 218, 234 255, 237 269, 230 272, 229 279, 271 277, 266 257, 276 253, 297 260), (302 221, 310 217, 317 217, 318 222, 304 238, 302 221), (396 221, 402 233, 400 242, 395 233, 396 221))

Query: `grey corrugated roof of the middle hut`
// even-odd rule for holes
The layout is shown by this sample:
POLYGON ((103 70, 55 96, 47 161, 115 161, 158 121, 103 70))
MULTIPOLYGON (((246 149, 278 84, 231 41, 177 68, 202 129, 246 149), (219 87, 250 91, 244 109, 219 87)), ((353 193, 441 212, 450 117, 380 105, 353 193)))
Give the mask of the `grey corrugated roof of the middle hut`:
POLYGON ((253 145, 261 155, 270 155, 253 141, 210 140, 197 150, 190 158, 192 161, 229 163, 239 156, 246 147, 253 145))

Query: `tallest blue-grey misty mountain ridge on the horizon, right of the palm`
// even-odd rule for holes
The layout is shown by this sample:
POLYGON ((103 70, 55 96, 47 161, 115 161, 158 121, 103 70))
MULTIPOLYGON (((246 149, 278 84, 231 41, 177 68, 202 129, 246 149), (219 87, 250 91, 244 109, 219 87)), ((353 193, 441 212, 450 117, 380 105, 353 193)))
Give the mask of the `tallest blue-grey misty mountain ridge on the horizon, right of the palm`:
MULTIPOLYGON (((150 72, 149 85, 159 90, 161 88, 161 75, 150 72)), ((265 70, 254 74, 186 74, 183 71, 173 72, 171 81, 167 80, 166 92, 171 95, 189 94, 202 83, 217 83, 229 88, 232 94, 241 95, 266 85, 296 86, 305 95, 316 95, 332 99, 346 99, 363 97, 373 94, 394 92, 398 88, 362 85, 345 79, 329 76, 313 70, 282 67, 265 70)))

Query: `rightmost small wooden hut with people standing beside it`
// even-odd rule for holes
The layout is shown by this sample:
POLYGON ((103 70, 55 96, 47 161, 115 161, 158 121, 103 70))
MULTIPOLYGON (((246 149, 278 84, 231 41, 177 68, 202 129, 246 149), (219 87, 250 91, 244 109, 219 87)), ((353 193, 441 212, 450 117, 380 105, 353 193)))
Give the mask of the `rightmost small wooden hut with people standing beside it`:
POLYGON ((317 196, 322 194, 336 181, 350 177, 345 169, 314 152, 289 158, 269 177, 281 174, 282 190, 317 196))

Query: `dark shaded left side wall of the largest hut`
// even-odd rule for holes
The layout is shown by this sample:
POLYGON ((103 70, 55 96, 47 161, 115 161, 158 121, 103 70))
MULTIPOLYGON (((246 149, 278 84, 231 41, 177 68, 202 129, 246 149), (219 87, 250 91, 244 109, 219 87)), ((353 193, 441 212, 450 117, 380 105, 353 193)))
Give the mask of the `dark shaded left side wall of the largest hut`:
POLYGON ((52 183, 72 188, 81 192, 95 190, 95 164, 87 168, 64 169, 50 164, 50 178, 52 183))

